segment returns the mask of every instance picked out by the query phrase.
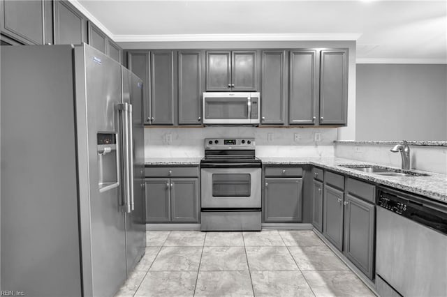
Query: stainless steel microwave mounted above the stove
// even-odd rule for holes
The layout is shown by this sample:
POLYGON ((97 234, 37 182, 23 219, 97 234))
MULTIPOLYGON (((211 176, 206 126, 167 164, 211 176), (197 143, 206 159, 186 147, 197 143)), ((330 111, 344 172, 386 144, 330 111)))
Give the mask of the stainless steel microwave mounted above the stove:
POLYGON ((203 93, 205 125, 258 125, 261 98, 258 92, 203 93))

